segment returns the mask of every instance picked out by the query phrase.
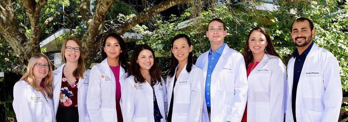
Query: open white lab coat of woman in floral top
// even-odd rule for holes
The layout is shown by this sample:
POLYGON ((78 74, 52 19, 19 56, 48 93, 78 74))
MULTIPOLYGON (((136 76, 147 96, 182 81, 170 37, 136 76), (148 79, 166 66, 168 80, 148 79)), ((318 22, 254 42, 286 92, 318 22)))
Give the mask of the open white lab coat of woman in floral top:
MULTIPOLYGON (((63 67, 65 63, 58 67, 53 71, 53 103, 54 103, 54 111, 57 114, 58 104, 60 103, 60 91, 62 87, 62 75, 63 75, 63 67)), ((89 115, 87 112, 86 106, 86 98, 87 98, 87 90, 89 83, 89 71, 84 72, 84 79, 79 79, 77 84, 77 104, 78 104, 78 112, 79 112, 79 122, 90 122, 89 115)))

